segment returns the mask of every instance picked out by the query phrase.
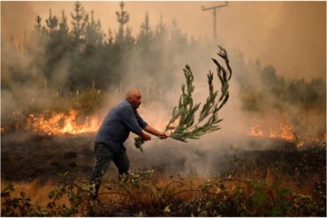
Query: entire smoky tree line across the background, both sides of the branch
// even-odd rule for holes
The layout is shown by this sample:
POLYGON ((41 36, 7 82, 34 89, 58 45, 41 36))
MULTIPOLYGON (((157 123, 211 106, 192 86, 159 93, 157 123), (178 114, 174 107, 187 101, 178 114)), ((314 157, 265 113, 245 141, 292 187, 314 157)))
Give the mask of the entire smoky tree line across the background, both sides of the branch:
MULTIPOLYGON (((87 12, 80 2, 74 3, 69 16, 62 11, 57 17, 51 9, 45 19, 36 16, 31 39, 34 43, 25 48, 32 61, 27 67, 17 67, 18 64, 7 61, 11 57, 6 54, 2 66, 2 89, 12 91, 17 88, 11 85, 11 81, 24 85, 38 80, 34 73, 37 69, 44 78, 38 80, 40 86, 53 88, 61 94, 87 88, 123 89, 131 85, 122 84, 129 80, 143 90, 158 91, 160 87, 164 92, 178 80, 179 75, 174 72, 182 72, 184 64, 194 67, 201 56, 209 60, 207 56, 217 49, 210 41, 194 40, 193 37, 189 40, 176 19, 169 26, 160 16, 156 27, 151 28, 147 12, 135 35, 128 27, 129 21, 123 2, 116 11, 118 30, 109 29, 107 33, 103 32, 101 21, 95 19, 95 12, 87 12), (68 25, 68 18, 71 25, 68 25), (10 73, 4 73, 4 69, 10 73)), ((243 109, 257 111, 270 105, 283 110, 289 104, 307 111, 310 108, 325 109, 326 82, 323 79, 285 79, 277 75, 271 65, 246 64, 242 55, 233 56, 231 64, 240 84, 243 109), (267 102, 265 94, 272 96, 271 101, 267 102)), ((204 75, 208 70, 202 69, 201 73, 204 75)))

